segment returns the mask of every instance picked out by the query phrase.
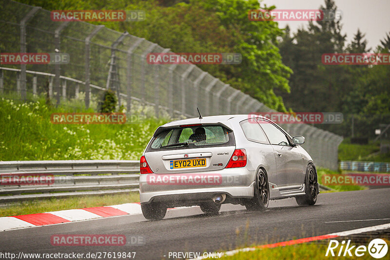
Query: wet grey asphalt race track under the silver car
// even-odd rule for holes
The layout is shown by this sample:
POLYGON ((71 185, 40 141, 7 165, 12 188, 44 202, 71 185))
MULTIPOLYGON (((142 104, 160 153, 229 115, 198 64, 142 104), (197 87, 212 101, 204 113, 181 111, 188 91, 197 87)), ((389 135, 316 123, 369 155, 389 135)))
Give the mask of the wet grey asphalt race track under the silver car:
POLYGON ((247 212, 243 206, 225 204, 218 216, 207 216, 199 207, 192 207, 168 211, 161 221, 127 215, 4 231, 0 232, 0 252, 136 252, 135 259, 169 259, 169 252, 226 251, 245 243, 286 241, 390 223, 376 220, 386 218, 390 218, 390 188, 320 193, 314 206, 300 207, 290 198, 270 202, 265 212, 247 212), (53 246, 50 237, 54 234, 122 234, 128 243, 53 246), (131 237, 142 237, 145 243, 132 245, 131 237))

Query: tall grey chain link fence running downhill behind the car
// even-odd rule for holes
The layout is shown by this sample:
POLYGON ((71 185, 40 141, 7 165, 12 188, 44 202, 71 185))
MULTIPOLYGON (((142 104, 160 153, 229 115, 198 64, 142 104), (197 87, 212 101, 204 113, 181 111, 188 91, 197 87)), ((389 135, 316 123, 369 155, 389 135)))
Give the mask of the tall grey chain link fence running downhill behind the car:
MULTIPOLYGON (((48 92, 57 104, 83 99, 85 107, 96 110, 98 97, 112 89, 127 113, 149 111, 171 118, 194 117, 196 107, 203 115, 273 111, 195 65, 148 64, 148 53, 170 50, 144 38, 82 21, 53 21, 50 11, 12 0, 0 0, 0 5, 1 53, 57 49, 70 56, 62 65, 0 65, 0 94, 18 93, 26 99, 48 92)), ((341 136, 306 124, 281 126, 306 137, 303 147, 316 165, 338 168, 341 136)))

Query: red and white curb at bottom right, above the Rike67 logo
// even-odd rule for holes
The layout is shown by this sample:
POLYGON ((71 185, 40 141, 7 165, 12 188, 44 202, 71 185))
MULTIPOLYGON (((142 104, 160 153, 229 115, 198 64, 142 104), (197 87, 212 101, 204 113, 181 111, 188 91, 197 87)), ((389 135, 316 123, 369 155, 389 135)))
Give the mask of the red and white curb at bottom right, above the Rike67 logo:
MULTIPOLYGON (((263 249, 263 248, 274 248, 274 247, 279 247, 279 246, 302 244, 302 243, 324 240, 324 239, 332 239, 332 238, 337 238, 337 237, 346 237, 346 236, 350 236, 350 235, 361 234, 361 233, 366 233, 366 232, 371 232, 371 231, 376 231, 376 230, 389 229, 389 228, 390 228, 390 223, 387 223, 387 224, 382 224, 382 225, 369 226, 369 227, 363 227, 363 228, 358 228, 358 229, 353 229, 353 230, 348 230, 348 231, 331 233, 328 235, 295 239, 295 240, 290 240, 290 241, 277 242, 277 243, 273 243, 273 244, 263 244, 263 245, 258 245, 258 246, 254 246, 254 247, 245 247, 245 248, 240 248, 240 249, 235 249, 235 250, 223 252, 222 254, 224 256, 233 256, 239 252, 249 252, 249 251, 255 251, 255 250, 259 250, 259 249, 263 249)), ((202 259, 208 259, 208 258, 207 257, 198 257, 198 258, 194 258, 192 260, 202 260, 202 259)))

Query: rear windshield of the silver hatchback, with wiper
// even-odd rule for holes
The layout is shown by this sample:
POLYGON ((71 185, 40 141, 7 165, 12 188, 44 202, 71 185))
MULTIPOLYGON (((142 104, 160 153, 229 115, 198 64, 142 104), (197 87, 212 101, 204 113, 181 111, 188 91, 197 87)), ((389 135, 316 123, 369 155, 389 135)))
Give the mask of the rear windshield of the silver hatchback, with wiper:
POLYGON ((149 149, 187 149, 234 145, 233 132, 222 126, 178 127, 160 132, 149 149))

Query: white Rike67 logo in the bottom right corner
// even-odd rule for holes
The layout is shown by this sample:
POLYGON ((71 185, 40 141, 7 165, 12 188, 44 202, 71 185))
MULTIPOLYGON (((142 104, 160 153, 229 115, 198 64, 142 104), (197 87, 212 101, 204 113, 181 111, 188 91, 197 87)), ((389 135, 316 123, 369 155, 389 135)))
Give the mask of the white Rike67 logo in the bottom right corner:
POLYGON ((362 257, 367 255, 367 252, 371 257, 381 259, 387 255, 388 245, 383 239, 374 239, 370 241, 368 247, 365 245, 351 245, 351 240, 347 242, 345 240, 339 242, 337 240, 329 241, 328 249, 325 256, 332 257, 362 257))

